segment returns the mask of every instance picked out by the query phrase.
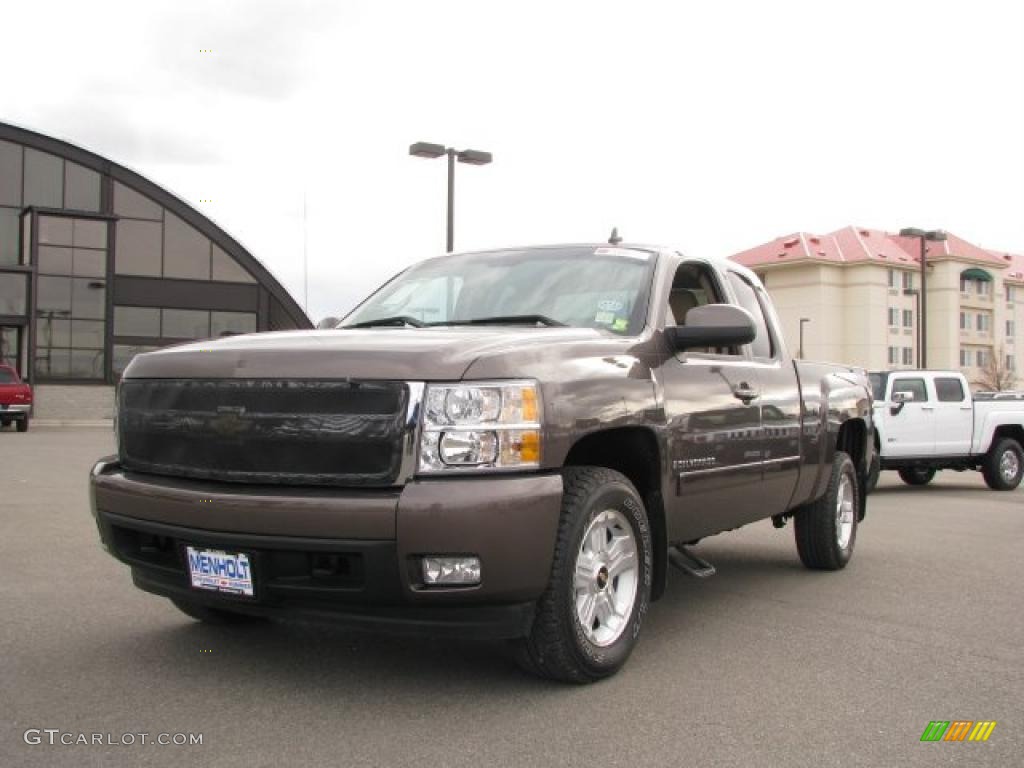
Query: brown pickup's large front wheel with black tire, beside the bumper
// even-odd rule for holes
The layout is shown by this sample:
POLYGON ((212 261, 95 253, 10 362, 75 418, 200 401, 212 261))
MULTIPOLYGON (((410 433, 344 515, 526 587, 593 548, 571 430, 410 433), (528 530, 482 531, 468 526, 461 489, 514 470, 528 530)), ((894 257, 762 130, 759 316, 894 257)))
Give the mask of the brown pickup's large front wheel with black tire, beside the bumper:
POLYGON ((563 481, 551 580, 516 658, 541 677, 591 683, 617 672, 636 645, 650 602, 650 526, 618 472, 568 467, 563 481))

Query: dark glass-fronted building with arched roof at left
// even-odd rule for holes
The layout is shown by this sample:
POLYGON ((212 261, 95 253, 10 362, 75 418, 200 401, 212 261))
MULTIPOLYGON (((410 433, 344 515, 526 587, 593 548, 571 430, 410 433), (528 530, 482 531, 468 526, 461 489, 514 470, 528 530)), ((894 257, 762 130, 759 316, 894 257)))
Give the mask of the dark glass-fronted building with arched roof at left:
POLYGON ((311 328, 229 234, 137 173, 0 123, 0 361, 114 383, 138 352, 311 328))

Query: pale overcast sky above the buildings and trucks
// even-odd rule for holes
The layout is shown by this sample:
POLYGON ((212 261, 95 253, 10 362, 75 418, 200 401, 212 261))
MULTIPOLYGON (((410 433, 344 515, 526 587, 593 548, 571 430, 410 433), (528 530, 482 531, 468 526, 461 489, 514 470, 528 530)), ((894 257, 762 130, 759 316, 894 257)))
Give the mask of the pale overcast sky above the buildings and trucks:
POLYGON ((798 229, 1024 251, 1024 3, 4 3, 0 120, 213 218, 309 314, 444 248, 726 256, 798 229), (212 52, 201 52, 209 49, 212 52), (210 200, 210 203, 200 201, 210 200))

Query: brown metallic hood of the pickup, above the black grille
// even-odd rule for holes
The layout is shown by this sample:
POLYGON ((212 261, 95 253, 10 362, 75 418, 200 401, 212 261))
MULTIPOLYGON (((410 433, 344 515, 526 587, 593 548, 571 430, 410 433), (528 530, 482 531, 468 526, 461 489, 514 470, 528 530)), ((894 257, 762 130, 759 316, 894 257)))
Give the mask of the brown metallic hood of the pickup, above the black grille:
MULTIPOLYGON (((532 356, 555 345, 602 341, 614 342, 598 331, 581 328, 290 331, 165 347, 137 355, 124 375, 133 379, 454 381, 480 358, 495 361, 513 353, 532 356)), ((517 374, 510 371, 508 375, 517 374)))

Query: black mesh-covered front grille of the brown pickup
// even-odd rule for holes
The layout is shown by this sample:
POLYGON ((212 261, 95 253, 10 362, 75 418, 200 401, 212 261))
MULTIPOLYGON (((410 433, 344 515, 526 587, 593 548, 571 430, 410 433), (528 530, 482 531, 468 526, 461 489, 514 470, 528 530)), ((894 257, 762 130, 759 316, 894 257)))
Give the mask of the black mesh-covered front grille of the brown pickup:
POLYGON ((408 398, 400 382, 126 379, 121 463, 229 482, 390 485, 408 398))

